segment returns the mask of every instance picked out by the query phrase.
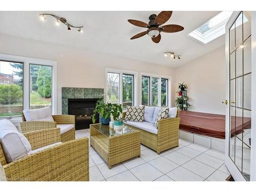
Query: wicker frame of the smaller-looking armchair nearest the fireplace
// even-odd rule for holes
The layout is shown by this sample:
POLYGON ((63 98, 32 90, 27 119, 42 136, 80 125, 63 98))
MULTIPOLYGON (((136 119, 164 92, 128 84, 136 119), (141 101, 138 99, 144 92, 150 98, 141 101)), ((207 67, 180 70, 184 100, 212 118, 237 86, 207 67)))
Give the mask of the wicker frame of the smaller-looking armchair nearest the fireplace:
POLYGON ((74 115, 52 115, 55 122, 52 121, 26 121, 26 118, 22 112, 22 121, 20 123, 20 129, 22 133, 28 133, 32 131, 49 129, 57 127, 57 124, 74 124, 74 127, 60 134, 61 142, 66 142, 75 139, 75 116, 74 115))

